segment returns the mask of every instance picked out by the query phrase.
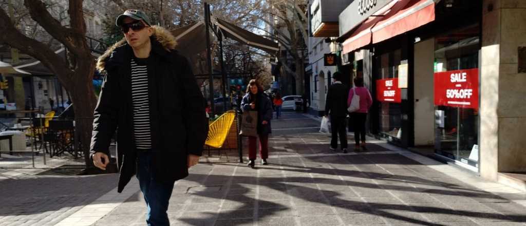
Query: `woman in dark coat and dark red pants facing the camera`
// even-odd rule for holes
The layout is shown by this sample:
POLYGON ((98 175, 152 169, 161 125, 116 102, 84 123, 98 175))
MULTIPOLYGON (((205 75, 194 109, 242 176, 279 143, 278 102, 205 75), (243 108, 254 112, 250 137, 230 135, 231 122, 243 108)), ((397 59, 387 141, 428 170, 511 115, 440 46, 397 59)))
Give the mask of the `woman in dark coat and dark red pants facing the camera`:
MULTIPOLYGON (((272 119, 272 102, 270 101, 270 98, 263 93, 263 90, 256 79, 249 81, 247 94, 241 101, 241 109, 243 111, 258 112, 257 130, 261 164, 267 165, 268 135, 271 133, 270 119, 272 119)), ((256 161, 256 137, 248 138, 248 159, 250 161, 247 165, 254 168, 256 161)))

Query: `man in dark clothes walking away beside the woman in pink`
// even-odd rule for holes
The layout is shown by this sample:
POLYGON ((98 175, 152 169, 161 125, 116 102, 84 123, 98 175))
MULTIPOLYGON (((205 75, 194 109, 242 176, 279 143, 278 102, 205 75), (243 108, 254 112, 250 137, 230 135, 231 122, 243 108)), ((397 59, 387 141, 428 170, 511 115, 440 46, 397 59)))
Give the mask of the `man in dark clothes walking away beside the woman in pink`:
POLYGON ((325 101, 325 115, 330 115, 331 141, 330 149, 336 150, 338 147, 338 136, 340 136, 340 147, 343 153, 347 153, 347 95, 346 85, 341 83, 342 74, 336 71, 332 74, 335 83, 327 91, 325 101))

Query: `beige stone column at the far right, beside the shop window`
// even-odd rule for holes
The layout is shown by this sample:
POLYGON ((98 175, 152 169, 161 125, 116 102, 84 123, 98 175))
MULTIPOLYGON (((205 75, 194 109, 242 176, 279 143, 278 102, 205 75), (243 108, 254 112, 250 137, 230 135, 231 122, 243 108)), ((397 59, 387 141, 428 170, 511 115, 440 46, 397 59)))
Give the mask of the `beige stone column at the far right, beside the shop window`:
POLYGON ((480 79, 480 173, 526 172, 526 1, 484 0, 480 79), (520 60, 519 60, 520 59, 520 60))

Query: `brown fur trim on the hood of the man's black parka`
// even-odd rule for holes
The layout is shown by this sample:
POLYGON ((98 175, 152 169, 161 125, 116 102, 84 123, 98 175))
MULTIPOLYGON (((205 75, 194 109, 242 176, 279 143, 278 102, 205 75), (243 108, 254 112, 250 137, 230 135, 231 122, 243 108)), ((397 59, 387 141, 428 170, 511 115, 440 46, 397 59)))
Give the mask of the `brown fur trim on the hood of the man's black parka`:
MULTIPOLYGON (((159 26, 151 26, 153 28, 153 34, 150 39, 156 43, 152 43, 152 50, 154 50, 155 45, 158 43, 166 52, 171 52, 177 46, 177 41, 175 40, 174 35, 172 35, 166 28, 159 26)), ((99 71, 104 71, 106 62, 113 58, 115 52, 118 51, 117 48, 127 46, 126 38, 121 39, 119 42, 115 43, 113 46, 109 47, 106 52, 97 59, 96 68, 99 71)))

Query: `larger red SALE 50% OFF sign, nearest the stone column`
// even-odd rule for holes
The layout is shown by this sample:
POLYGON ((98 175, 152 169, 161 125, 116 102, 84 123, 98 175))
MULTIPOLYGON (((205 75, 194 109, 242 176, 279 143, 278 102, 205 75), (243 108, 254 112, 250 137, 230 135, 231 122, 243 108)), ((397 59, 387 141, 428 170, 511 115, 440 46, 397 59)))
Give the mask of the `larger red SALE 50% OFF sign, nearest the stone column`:
POLYGON ((434 105, 479 108, 479 69, 434 74, 434 105))

